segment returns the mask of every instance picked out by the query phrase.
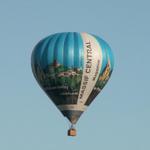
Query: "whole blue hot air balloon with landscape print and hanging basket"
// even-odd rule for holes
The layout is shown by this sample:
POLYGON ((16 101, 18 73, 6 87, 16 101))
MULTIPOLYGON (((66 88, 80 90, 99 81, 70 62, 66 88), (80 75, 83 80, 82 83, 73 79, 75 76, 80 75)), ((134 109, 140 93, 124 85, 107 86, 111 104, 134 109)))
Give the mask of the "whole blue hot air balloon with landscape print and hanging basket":
POLYGON ((109 80, 114 58, 109 45, 96 35, 63 32, 42 39, 31 56, 33 74, 48 97, 75 124, 109 80))

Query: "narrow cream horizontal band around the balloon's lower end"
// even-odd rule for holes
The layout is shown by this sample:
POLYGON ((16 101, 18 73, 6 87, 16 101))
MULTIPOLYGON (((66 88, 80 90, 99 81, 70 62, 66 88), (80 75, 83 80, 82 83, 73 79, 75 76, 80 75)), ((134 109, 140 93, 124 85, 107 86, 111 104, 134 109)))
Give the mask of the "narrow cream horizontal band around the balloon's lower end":
POLYGON ((60 111, 63 111, 63 110, 76 110, 76 111, 85 111, 87 106, 79 106, 77 104, 75 105, 57 105, 57 108, 60 110, 60 111))

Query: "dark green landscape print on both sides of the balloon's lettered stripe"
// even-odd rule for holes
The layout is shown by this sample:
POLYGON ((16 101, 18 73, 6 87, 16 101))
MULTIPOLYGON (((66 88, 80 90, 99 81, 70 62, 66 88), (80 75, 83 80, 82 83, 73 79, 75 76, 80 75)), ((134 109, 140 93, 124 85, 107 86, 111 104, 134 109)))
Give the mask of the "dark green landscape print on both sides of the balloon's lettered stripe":
MULTIPOLYGON (((56 60, 41 69, 36 66, 36 74, 39 82, 55 103, 76 104, 82 80, 82 68, 70 68, 59 64, 56 60), (63 99, 61 101, 60 99, 63 99)), ((92 100, 101 92, 111 76, 112 70, 110 61, 99 75, 96 85, 87 99, 85 105, 89 105, 92 100)))

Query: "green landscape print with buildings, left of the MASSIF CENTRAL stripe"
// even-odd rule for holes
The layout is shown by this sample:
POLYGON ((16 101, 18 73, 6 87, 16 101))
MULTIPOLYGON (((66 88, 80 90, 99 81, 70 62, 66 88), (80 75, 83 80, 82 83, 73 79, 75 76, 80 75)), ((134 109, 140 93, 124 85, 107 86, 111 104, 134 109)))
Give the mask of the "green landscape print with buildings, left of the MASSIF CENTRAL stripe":
POLYGON ((54 60, 41 69, 36 66, 39 82, 48 95, 55 99, 56 104, 76 104, 82 80, 81 68, 63 66, 54 60), (61 103, 61 99, 63 99, 61 103))

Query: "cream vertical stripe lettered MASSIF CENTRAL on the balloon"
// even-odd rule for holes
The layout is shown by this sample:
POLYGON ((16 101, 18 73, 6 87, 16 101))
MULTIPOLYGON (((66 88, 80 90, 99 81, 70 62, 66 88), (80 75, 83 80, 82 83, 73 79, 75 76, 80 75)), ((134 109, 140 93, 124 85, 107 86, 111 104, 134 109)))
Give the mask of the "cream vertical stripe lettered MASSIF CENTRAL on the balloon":
POLYGON ((77 104, 83 107, 91 94, 102 66, 102 50, 95 37, 81 33, 84 46, 84 67, 77 104))

